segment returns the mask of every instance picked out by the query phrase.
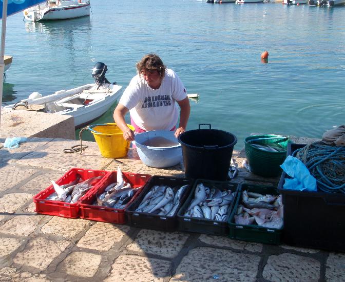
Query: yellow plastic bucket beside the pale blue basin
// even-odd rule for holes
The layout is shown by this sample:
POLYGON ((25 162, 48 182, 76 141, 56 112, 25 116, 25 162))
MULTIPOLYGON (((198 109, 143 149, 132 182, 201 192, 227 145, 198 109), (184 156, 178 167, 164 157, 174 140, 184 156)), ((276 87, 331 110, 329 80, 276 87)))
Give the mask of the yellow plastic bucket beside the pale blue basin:
MULTIPOLYGON (((127 125, 131 130, 135 128, 127 125)), ((124 157, 128 153, 130 142, 123 138, 123 132, 117 124, 100 124, 89 126, 101 154, 107 158, 124 157)))

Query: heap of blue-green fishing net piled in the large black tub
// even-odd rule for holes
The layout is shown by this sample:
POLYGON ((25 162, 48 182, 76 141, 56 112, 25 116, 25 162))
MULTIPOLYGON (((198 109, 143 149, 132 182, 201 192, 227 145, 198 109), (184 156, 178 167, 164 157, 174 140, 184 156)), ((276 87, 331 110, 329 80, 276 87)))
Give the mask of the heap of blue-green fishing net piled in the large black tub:
POLYGON ((296 150, 293 156, 316 178, 319 190, 345 194, 345 146, 314 142, 296 150))

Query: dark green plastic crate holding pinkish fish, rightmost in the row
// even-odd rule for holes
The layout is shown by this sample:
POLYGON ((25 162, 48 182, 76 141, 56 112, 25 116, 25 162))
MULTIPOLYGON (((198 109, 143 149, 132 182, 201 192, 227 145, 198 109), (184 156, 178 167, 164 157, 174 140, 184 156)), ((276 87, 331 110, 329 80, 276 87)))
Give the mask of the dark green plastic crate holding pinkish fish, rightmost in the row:
POLYGON ((275 187, 242 184, 237 192, 233 212, 227 221, 229 226, 228 237, 231 239, 279 245, 283 227, 276 229, 266 228, 258 225, 241 225, 235 223, 235 215, 242 197, 242 191, 244 190, 260 194, 278 195, 277 188, 275 187))

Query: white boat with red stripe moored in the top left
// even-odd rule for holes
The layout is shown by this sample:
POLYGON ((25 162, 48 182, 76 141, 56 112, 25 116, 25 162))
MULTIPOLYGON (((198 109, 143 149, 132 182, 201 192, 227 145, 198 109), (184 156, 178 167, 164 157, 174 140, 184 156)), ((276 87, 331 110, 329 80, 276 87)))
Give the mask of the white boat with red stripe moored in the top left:
POLYGON ((31 22, 50 19, 67 19, 90 15, 90 0, 48 0, 23 11, 24 18, 31 22))

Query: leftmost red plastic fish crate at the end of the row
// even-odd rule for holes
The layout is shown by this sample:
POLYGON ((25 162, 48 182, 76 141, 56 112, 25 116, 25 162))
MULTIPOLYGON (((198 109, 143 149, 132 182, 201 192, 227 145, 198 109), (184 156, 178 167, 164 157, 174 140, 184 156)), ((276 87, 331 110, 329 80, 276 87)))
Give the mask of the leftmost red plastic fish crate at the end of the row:
MULTIPOLYGON (((56 181, 56 184, 68 184, 75 180, 77 174, 81 176, 80 181, 84 181, 90 179, 93 176, 97 177, 103 175, 103 177, 105 177, 109 174, 109 171, 72 168, 69 171, 67 171, 61 178, 59 178, 59 180, 56 181)), ((96 188, 101 183, 101 180, 102 178, 99 179, 98 182, 95 182, 93 188, 96 188)), ((44 189, 43 191, 41 191, 33 197, 33 202, 36 205, 35 212, 48 215, 77 218, 79 217, 79 202, 85 196, 87 196, 93 188, 91 188, 85 195, 83 195, 77 203, 70 204, 56 200, 45 200, 45 198, 47 198, 50 194, 55 192, 53 185, 50 185, 48 188, 44 189)))

